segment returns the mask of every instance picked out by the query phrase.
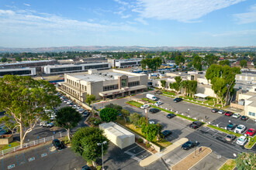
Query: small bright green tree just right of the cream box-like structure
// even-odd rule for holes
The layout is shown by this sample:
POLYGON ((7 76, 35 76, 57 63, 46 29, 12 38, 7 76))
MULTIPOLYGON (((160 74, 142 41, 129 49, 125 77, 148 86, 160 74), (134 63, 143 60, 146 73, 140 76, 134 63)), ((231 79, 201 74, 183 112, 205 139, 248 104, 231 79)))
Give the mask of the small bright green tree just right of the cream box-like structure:
POLYGON ((159 132, 157 124, 142 124, 141 132, 146 137, 147 141, 153 141, 159 132))

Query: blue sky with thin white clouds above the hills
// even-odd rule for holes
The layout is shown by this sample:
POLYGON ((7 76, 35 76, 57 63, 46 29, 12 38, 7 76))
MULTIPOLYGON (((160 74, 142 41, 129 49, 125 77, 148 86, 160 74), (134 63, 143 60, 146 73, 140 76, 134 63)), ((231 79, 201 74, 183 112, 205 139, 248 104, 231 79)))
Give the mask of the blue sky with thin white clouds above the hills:
POLYGON ((256 46, 256 1, 0 0, 0 46, 256 46))

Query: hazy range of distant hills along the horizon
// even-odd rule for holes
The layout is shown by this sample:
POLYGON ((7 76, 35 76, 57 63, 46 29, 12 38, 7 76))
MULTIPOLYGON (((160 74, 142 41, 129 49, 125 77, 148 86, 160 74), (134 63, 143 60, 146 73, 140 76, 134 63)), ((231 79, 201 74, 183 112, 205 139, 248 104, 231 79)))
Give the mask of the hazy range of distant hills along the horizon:
POLYGON ((40 48, 5 48, 0 47, 0 53, 40 53, 40 52, 63 52, 63 51, 255 51, 256 46, 227 46, 227 47, 199 47, 199 46, 60 46, 40 48))

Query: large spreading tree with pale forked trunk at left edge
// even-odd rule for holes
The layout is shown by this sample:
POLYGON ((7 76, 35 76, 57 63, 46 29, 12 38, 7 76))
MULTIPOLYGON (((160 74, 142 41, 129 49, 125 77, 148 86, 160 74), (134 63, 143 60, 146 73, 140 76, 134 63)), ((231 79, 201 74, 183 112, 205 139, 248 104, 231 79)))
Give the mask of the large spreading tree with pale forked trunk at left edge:
POLYGON ((33 80, 30 76, 5 75, 0 78, 0 110, 5 116, 13 117, 6 120, 19 124, 20 145, 23 145, 26 134, 33 131, 37 119, 47 119, 50 112, 61 104, 53 84, 45 80, 33 80))

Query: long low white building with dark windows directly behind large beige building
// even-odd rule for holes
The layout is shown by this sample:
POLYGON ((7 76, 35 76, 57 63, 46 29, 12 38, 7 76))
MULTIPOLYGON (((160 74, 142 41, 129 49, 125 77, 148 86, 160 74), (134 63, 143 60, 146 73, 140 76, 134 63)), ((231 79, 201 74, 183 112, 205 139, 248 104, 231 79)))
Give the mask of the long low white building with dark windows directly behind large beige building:
POLYGON ((71 73, 71 72, 87 71, 89 69, 106 70, 109 68, 110 68, 110 63, 51 65, 51 66, 43 66, 43 73, 45 74, 71 73))

